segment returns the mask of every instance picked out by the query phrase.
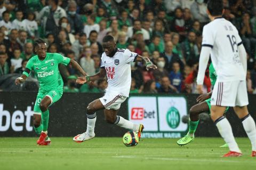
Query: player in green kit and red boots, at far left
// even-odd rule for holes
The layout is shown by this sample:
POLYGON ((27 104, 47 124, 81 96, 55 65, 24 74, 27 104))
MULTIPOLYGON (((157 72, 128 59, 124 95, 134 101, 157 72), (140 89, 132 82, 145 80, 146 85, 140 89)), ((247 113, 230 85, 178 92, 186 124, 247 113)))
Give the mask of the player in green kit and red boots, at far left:
POLYGON ((86 76, 84 70, 79 64, 59 53, 47 53, 46 43, 42 39, 35 42, 35 52, 37 55, 29 59, 25 71, 15 80, 16 84, 25 82, 32 70, 35 71, 39 81, 39 91, 34 106, 34 129, 40 135, 37 140, 38 145, 49 145, 50 138, 47 136, 49 122, 48 108, 57 102, 63 93, 63 80, 61 78, 58 65, 71 64, 83 76, 86 76))

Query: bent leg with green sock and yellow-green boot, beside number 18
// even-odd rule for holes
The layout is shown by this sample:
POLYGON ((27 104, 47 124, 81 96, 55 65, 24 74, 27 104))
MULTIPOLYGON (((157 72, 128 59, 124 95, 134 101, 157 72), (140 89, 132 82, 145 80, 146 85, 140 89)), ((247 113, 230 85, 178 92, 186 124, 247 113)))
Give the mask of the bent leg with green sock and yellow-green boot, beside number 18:
POLYGON ((204 101, 202 103, 198 103, 195 106, 191 107, 189 110, 189 131, 188 134, 182 137, 177 141, 179 145, 185 145, 194 140, 194 134, 196 132, 197 125, 199 123, 199 114, 202 112, 210 112, 208 101, 204 101))

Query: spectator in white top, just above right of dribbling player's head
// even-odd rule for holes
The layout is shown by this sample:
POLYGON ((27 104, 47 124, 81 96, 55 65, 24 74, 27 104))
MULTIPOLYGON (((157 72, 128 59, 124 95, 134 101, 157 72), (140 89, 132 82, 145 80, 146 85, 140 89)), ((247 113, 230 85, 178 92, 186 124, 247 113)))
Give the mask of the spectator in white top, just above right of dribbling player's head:
POLYGON ((137 32, 137 31, 142 31, 143 34, 143 38, 144 40, 149 40, 150 36, 147 30, 141 28, 141 21, 140 20, 135 20, 133 23, 133 27, 129 27, 128 31, 127 31, 127 36, 128 38, 132 38, 133 39, 133 35, 137 32))

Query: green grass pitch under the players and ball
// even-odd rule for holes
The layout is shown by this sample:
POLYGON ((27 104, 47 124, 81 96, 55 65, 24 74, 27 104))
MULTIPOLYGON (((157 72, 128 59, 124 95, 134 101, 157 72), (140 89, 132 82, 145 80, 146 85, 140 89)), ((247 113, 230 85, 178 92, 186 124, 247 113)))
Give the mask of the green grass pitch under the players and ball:
POLYGON ((221 158, 221 138, 196 137, 180 147, 177 139, 143 139, 125 147, 122 137, 96 137, 75 143, 72 137, 51 137, 50 146, 37 146, 35 137, 0 137, 0 169, 254 169, 247 138, 237 138, 243 156, 221 158))

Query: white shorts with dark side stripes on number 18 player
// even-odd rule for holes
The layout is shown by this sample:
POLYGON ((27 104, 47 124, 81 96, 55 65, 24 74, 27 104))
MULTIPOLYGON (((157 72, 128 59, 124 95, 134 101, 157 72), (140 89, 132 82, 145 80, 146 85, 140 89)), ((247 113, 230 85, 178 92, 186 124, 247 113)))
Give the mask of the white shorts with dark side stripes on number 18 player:
POLYGON ((247 106, 248 94, 245 80, 216 82, 211 96, 213 106, 247 106))

